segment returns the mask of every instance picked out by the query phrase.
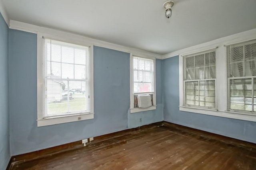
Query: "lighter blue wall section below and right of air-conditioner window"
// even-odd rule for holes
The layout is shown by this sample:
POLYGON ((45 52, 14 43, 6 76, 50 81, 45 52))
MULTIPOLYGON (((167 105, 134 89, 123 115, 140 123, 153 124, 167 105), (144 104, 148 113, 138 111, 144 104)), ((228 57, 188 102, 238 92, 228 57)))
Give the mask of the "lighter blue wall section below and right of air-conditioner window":
POLYGON ((156 59, 156 110, 142 111, 137 113, 130 113, 130 110, 128 110, 128 127, 134 128, 163 121, 162 96, 162 60, 156 59), (141 122, 140 118, 142 119, 141 122))

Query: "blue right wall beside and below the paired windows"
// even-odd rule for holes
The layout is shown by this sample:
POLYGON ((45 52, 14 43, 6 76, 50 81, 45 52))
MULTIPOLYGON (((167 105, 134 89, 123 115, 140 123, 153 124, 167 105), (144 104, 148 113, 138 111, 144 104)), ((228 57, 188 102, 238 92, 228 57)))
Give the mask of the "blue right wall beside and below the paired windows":
POLYGON ((256 122, 179 111, 179 58, 163 60, 164 121, 256 143, 256 122))

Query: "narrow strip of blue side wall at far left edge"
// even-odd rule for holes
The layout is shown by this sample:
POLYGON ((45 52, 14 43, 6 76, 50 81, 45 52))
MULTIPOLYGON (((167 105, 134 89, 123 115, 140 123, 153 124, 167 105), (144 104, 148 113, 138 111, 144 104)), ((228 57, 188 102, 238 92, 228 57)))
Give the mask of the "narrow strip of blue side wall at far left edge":
POLYGON ((0 14, 0 170, 9 160, 8 26, 0 14))

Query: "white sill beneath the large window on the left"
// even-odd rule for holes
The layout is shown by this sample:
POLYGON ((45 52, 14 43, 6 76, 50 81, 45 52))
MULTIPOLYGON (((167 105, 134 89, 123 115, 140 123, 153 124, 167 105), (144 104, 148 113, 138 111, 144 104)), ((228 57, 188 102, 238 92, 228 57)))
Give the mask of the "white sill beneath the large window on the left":
POLYGON ((81 121, 87 119, 93 119, 94 113, 82 113, 75 115, 64 115, 58 117, 48 117, 46 119, 37 119, 37 127, 55 125, 60 123, 68 123, 73 121, 81 121))

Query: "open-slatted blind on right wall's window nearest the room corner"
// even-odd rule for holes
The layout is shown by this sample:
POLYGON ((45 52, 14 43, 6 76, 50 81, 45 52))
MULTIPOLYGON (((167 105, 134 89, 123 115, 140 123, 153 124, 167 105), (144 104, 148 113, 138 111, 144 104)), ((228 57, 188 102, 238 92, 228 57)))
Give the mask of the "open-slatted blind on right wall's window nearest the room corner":
POLYGON ((216 109, 216 49, 183 56, 183 106, 216 109))

